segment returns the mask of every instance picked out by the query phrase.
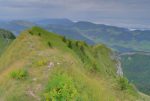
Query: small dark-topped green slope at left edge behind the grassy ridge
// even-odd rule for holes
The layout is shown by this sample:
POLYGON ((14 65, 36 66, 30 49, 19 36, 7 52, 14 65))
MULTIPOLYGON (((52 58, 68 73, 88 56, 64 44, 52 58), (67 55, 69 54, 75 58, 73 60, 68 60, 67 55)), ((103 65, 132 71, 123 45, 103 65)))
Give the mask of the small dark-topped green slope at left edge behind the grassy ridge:
POLYGON ((0 29, 0 54, 15 39, 15 36, 4 29, 0 29))

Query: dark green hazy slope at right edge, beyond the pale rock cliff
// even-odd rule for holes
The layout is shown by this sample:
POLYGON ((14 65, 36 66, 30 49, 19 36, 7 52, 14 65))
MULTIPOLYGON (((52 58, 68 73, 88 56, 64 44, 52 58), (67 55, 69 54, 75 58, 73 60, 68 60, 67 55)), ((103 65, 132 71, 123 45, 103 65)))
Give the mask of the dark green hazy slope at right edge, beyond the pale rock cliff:
POLYGON ((142 53, 123 55, 122 67, 125 76, 140 91, 150 94, 150 55, 142 53))

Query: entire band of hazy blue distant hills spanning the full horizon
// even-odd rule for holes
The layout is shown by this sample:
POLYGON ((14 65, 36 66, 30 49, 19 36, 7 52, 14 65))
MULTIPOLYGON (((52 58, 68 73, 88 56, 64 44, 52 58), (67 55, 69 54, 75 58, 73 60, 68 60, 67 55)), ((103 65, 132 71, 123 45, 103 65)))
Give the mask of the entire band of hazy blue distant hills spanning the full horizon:
POLYGON ((120 52, 150 51, 150 30, 94 24, 87 21, 73 22, 69 19, 44 19, 36 21, 11 21, 0 23, 0 28, 8 29, 16 35, 32 26, 41 26, 51 32, 65 35, 71 39, 85 40, 90 44, 104 43, 120 52))

